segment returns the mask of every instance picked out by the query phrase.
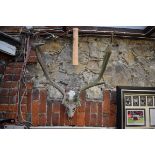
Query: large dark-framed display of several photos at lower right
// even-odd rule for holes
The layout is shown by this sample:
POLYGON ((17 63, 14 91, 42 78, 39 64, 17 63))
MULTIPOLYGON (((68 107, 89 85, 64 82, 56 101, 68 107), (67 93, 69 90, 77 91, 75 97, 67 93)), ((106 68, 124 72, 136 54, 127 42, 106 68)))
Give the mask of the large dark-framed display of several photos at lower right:
POLYGON ((117 86, 117 128, 155 128, 155 87, 117 86))

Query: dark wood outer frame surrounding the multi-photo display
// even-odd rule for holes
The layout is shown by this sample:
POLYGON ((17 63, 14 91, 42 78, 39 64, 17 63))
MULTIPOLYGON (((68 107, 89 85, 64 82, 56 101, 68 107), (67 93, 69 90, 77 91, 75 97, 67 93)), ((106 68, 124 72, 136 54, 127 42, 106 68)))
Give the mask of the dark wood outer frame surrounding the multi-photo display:
MULTIPOLYGON (((133 87, 133 86, 117 86, 116 87, 116 93, 117 93, 117 128, 118 129, 125 129, 126 124, 125 124, 125 104, 124 104, 124 93, 131 93, 133 94, 140 94, 140 93, 145 93, 150 94, 153 93, 155 94, 155 87, 133 87)), ((134 109, 134 108, 133 108, 134 109)), ((144 109, 144 108, 140 108, 144 109)), ((145 112, 146 114, 146 112, 145 112)), ((141 128, 141 127, 139 127, 141 128)))

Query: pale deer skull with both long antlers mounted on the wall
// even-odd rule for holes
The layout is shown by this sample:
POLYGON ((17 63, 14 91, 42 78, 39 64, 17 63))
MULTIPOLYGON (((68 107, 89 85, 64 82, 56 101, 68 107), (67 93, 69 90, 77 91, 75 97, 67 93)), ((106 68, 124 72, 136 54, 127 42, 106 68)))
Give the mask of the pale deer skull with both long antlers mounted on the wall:
POLYGON ((65 106, 66 113, 69 118, 72 118, 74 116, 74 113, 75 113, 77 107, 81 105, 80 104, 81 92, 83 92, 86 89, 89 89, 91 87, 104 84, 104 82, 100 82, 100 80, 103 77, 103 73, 104 73, 106 66, 108 64, 108 61, 109 61, 109 58, 111 55, 111 47, 112 47, 111 44, 108 45, 106 50, 104 51, 105 55, 103 57, 103 62, 102 62, 102 66, 101 66, 101 70, 100 70, 98 78, 95 81, 89 83, 88 85, 82 87, 78 92, 75 92, 73 90, 69 90, 66 92, 66 90, 64 88, 60 87, 58 85, 58 83, 56 83, 50 79, 49 73, 47 71, 47 67, 46 67, 44 61, 42 60, 42 54, 41 54, 42 52, 41 52, 39 46, 36 46, 36 45, 34 46, 36 55, 38 58, 38 62, 44 72, 45 77, 49 81, 49 84, 52 85, 53 87, 55 87, 63 95, 62 104, 65 106))

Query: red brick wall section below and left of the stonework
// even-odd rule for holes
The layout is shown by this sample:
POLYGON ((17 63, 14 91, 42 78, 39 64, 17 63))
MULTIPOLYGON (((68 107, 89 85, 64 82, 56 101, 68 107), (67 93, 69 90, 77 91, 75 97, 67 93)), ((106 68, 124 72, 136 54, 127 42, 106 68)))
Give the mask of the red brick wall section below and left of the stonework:
MULTIPOLYGON (((35 63, 36 56, 31 52, 29 63, 35 63)), ((0 118, 18 118, 18 80, 23 63, 9 63, 0 85, 0 118)), ((22 119, 32 122, 33 126, 93 126, 115 127, 116 104, 111 100, 111 92, 104 91, 104 101, 87 101, 86 94, 81 95, 81 106, 74 117, 67 118, 61 101, 47 101, 45 88, 33 88, 27 83, 21 111, 22 119)), ((21 89, 20 92, 24 90, 21 89)))

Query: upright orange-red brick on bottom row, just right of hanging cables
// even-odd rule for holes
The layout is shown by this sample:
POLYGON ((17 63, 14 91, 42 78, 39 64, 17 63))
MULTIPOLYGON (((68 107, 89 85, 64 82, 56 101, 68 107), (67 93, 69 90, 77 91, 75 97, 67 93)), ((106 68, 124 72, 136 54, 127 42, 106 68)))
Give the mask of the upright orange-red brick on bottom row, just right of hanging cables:
POLYGON ((35 100, 32 102, 32 124, 38 126, 39 124, 39 101, 35 100))

